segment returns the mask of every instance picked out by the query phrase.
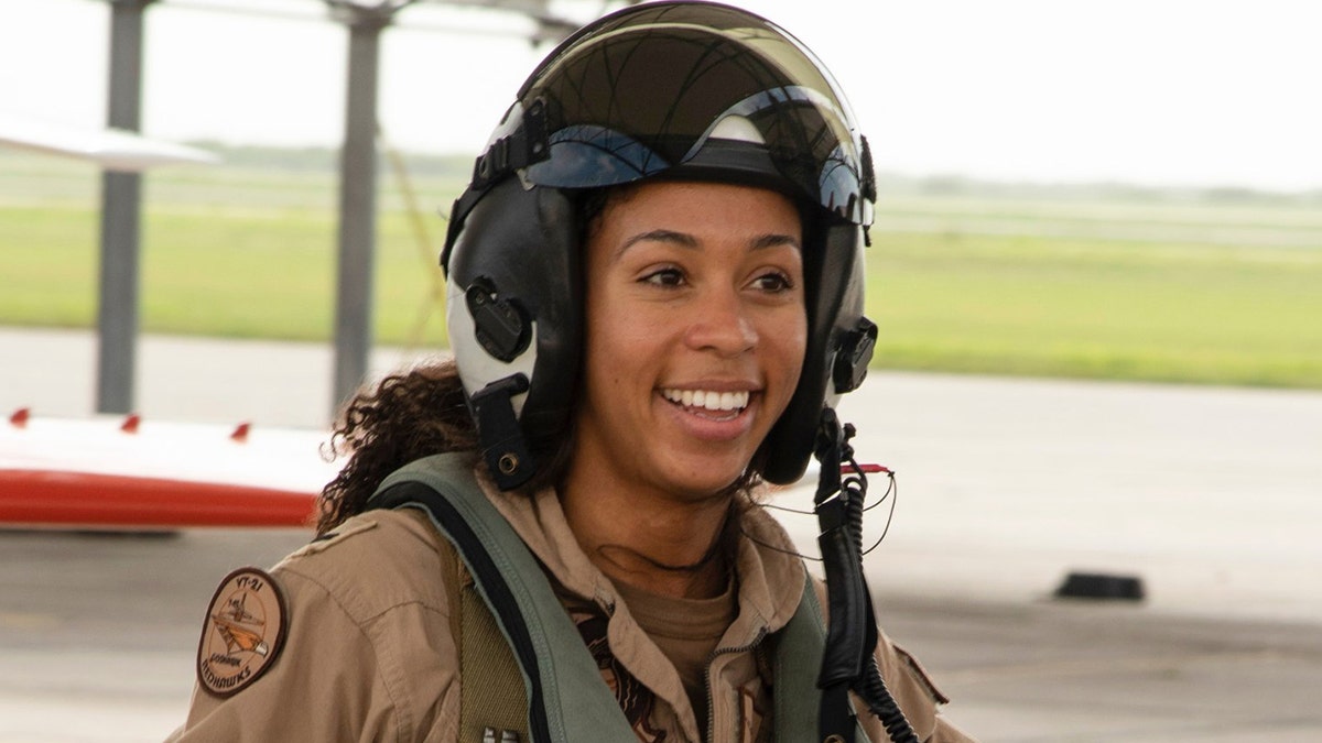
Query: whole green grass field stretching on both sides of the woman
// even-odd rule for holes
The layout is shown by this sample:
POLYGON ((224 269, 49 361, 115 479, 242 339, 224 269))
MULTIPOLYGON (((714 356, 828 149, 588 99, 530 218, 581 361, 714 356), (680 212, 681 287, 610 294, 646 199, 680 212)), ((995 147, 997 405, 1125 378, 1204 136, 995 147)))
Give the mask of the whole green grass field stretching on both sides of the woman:
MULTIPOLYGON (((143 329, 327 338, 334 181, 325 168, 254 164, 151 175, 143 329)), ((419 238, 383 173, 378 342, 444 342, 430 300, 436 208, 460 182, 435 169, 414 177, 419 238)), ((0 153, 0 324, 93 324, 98 190, 91 167, 0 153)), ((873 238, 876 366, 1322 387, 1317 200, 895 188, 873 238)))

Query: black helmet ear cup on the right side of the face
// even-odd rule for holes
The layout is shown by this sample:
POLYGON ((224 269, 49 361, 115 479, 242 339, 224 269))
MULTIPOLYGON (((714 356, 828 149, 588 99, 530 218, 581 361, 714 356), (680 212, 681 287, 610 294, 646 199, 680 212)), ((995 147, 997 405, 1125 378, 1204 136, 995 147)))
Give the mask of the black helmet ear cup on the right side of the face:
MULTIPOLYGON (((824 407, 834 407, 837 357, 853 337, 863 317, 862 230, 854 225, 833 225, 816 231, 820 242, 804 246, 804 274, 808 288, 808 348, 798 387, 785 411, 763 443, 763 479, 788 485, 804 476, 817 438, 824 407)), ((855 346, 857 348, 857 346, 855 346)), ((870 357, 870 345, 866 348, 870 357)), ((866 369, 866 358, 862 360, 866 369)), ((854 366, 857 381, 863 372, 854 366)))

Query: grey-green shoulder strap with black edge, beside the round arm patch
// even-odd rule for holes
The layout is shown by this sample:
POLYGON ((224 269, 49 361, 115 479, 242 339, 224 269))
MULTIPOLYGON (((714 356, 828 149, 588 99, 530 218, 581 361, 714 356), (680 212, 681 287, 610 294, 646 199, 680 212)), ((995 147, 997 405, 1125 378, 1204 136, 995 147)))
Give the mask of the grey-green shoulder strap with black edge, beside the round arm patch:
POLYGON ((420 459, 387 477, 370 505, 422 509, 453 543, 522 672, 531 740, 636 740, 537 558, 477 485, 469 457, 420 459))

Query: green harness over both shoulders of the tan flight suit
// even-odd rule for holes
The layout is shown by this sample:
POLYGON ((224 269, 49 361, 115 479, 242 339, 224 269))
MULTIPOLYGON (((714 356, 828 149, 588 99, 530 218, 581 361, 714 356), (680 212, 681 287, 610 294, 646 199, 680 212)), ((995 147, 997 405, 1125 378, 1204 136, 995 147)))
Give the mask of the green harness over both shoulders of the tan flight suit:
MULTIPOLYGON (((461 453, 416 460, 387 477, 370 504, 423 510, 452 547, 442 549, 442 561, 451 606, 460 607, 451 616, 460 648, 460 740, 481 742, 488 728, 496 743, 504 731, 535 743, 637 740, 541 565, 483 493, 471 461, 461 453)), ((779 743, 817 739, 825 639, 809 579, 795 616, 773 635, 779 743)), ((857 740, 867 740, 862 728, 857 740)))

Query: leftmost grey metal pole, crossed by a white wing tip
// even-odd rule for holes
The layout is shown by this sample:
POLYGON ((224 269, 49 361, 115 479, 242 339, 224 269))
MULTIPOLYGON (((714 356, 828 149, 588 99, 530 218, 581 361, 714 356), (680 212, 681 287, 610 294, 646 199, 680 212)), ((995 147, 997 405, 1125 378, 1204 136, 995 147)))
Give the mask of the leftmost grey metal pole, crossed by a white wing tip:
MULTIPOLYGON (((149 3, 152 0, 110 3, 110 127, 141 128, 143 11, 149 3)), ((102 173, 98 412, 128 412, 134 406, 140 214, 141 177, 131 172, 102 173)))

